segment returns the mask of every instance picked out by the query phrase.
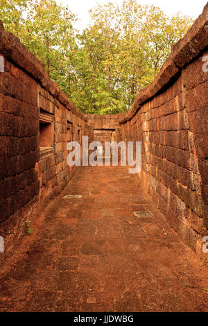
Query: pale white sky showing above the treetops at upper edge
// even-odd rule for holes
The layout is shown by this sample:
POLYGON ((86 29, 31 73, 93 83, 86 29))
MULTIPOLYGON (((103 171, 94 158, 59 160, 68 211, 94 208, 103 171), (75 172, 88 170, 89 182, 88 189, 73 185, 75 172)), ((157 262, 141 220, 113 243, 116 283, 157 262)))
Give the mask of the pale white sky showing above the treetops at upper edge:
MULTIPOLYGON (((76 28, 84 29, 89 23, 88 10, 94 8, 96 3, 119 3, 123 0, 58 0, 63 5, 69 6, 72 12, 80 19, 76 28)), ((196 19, 201 13, 207 0, 137 0, 141 5, 153 4, 162 8, 168 15, 180 12, 182 15, 189 15, 196 19)))

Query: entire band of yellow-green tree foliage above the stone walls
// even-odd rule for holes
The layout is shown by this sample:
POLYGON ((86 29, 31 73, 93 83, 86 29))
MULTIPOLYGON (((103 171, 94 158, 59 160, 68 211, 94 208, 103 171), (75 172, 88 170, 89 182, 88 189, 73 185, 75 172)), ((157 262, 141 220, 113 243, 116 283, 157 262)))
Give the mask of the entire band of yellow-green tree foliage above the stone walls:
POLYGON ((75 35, 76 17, 55 0, 0 0, 0 18, 85 113, 129 110, 139 89, 153 81, 190 17, 168 17, 135 0, 91 10, 91 24, 75 35))

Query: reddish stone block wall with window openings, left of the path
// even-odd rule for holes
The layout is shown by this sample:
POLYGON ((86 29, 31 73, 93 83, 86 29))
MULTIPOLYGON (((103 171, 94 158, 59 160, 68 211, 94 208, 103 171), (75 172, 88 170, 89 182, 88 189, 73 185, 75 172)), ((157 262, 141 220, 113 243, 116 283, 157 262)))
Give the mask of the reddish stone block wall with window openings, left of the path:
POLYGON ((81 139, 87 119, 2 26, 0 55, 0 223, 14 237, 69 182, 67 142, 81 139))

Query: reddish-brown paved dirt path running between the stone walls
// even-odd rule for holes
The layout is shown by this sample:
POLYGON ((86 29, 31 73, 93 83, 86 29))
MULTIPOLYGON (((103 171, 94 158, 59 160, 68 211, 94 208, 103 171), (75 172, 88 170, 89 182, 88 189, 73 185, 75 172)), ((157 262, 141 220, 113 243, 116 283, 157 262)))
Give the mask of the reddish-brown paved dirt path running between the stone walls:
POLYGON ((208 311, 206 268, 126 167, 80 169, 31 227, 1 311, 208 311))

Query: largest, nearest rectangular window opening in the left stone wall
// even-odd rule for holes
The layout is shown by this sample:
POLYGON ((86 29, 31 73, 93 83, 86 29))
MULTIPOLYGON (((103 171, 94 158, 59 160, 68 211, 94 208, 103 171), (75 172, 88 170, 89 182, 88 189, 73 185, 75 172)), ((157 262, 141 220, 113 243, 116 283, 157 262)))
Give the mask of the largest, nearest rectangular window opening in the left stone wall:
POLYGON ((40 160, 53 155, 54 139, 53 115, 40 112, 40 160))

